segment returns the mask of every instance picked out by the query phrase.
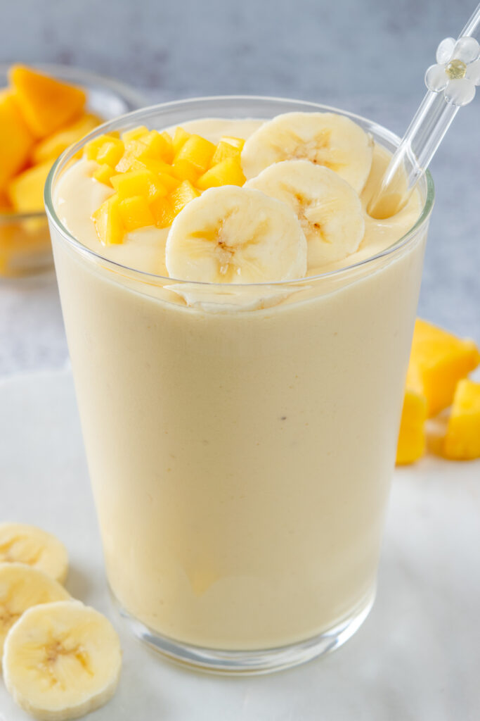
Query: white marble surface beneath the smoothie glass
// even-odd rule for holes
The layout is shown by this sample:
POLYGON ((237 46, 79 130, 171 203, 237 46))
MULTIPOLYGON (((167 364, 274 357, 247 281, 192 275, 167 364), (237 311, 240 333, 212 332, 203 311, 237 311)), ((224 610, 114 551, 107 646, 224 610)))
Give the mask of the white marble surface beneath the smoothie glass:
MULTIPOLYGON (((91 721, 477 721, 480 461, 397 470, 379 593, 336 653, 258 678, 177 668, 130 637, 105 588, 68 371, 0 381, 1 516, 57 534, 68 590, 119 630, 116 696, 91 721)), ((27 721, 0 681, 0 721, 27 721)))

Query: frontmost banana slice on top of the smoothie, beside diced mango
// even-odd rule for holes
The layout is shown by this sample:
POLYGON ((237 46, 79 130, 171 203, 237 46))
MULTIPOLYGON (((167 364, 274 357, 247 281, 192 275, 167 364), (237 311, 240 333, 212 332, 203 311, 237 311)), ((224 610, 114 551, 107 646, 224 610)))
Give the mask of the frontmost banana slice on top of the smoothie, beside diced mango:
POLYGON ((166 242, 171 278, 263 283, 302 278, 307 241, 295 213, 258 190, 206 190, 178 213, 166 242))

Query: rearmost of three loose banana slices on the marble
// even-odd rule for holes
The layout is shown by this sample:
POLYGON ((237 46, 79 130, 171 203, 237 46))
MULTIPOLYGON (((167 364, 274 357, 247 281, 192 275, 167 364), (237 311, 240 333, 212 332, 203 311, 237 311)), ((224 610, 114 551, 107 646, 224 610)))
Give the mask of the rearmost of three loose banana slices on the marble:
POLYGON ((0 562, 18 561, 63 583, 67 577, 67 549, 55 536, 26 523, 0 523, 0 562))

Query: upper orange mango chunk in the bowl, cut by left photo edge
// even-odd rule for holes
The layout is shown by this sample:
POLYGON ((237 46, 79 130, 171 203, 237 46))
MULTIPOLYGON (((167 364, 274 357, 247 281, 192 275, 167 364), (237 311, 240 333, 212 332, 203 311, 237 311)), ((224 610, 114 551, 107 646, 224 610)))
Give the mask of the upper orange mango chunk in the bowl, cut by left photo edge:
POLYGON ((0 92, 0 190, 22 170, 33 143, 14 95, 6 90, 0 92))

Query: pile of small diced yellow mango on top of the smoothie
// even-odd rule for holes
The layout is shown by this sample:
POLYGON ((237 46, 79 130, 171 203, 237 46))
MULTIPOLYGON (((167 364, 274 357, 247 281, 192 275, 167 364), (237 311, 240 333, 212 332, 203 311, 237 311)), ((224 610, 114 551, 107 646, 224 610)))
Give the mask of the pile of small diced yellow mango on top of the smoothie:
POLYGON ((125 233, 142 227, 168 228, 203 190, 243 185, 244 142, 222 136, 215 145, 184 128, 171 136, 145 125, 121 138, 94 138, 83 156, 98 164, 93 177, 115 191, 93 216, 100 242, 121 243, 125 233))

